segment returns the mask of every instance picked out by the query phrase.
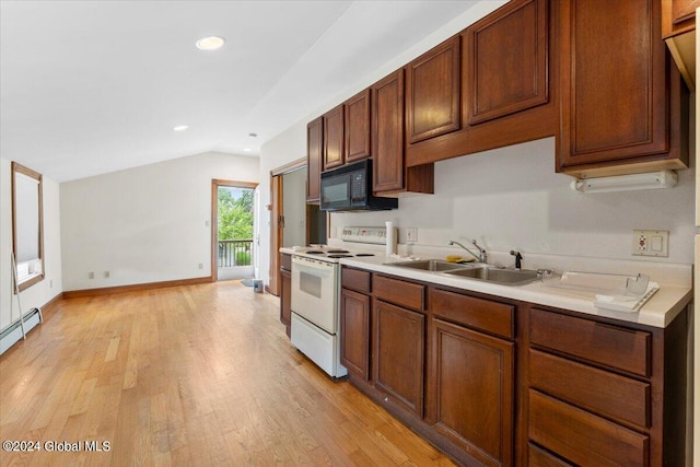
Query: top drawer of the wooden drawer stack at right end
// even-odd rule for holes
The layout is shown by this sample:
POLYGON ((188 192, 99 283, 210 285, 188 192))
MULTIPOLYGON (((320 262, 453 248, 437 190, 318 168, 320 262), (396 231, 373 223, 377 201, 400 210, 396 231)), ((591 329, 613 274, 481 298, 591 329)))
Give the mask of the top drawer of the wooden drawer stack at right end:
POLYGON ((650 332, 533 310, 530 341, 641 376, 650 376, 650 332))

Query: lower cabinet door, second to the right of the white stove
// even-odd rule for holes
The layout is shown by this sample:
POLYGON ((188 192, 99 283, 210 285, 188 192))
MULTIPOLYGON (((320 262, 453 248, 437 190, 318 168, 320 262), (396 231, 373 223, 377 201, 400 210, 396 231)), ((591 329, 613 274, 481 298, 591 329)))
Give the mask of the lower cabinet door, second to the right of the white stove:
POLYGON ((375 387, 393 402, 422 417, 424 316, 375 300, 373 319, 375 387))

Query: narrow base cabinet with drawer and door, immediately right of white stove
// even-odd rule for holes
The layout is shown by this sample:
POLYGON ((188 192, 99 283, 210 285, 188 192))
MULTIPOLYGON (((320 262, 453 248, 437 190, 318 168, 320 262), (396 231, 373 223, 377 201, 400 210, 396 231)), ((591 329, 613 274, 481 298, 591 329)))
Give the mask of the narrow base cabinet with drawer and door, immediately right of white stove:
POLYGON ((340 363, 370 380, 371 273, 343 267, 340 292, 340 363))

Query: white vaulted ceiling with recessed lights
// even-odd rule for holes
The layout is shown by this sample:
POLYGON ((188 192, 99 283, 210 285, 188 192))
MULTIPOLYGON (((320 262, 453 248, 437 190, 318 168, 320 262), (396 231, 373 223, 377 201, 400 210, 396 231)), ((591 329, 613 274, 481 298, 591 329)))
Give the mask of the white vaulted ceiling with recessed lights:
POLYGON ((1 0, 0 155, 57 182, 255 156, 475 3, 1 0))

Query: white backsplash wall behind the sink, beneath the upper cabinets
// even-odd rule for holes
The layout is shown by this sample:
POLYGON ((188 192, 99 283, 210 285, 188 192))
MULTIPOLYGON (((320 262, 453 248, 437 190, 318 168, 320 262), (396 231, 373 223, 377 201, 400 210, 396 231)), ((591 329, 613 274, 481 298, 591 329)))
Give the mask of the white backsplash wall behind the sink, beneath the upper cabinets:
POLYGON ((399 243, 418 229, 416 245, 468 245, 487 250, 644 259, 631 256, 632 230, 668 230, 669 257, 693 262, 695 168, 678 171, 670 189, 579 194, 555 173, 555 139, 546 138, 435 164, 435 194, 399 199, 399 208, 331 214, 330 236, 345 225, 393 221, 399 243))

